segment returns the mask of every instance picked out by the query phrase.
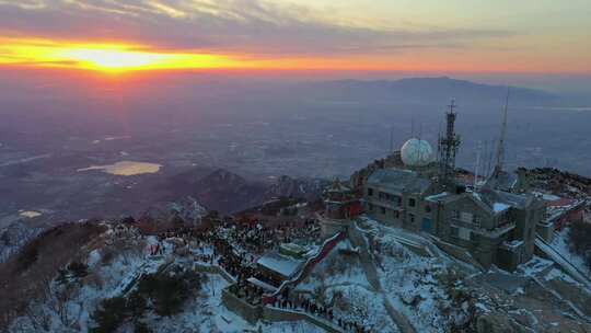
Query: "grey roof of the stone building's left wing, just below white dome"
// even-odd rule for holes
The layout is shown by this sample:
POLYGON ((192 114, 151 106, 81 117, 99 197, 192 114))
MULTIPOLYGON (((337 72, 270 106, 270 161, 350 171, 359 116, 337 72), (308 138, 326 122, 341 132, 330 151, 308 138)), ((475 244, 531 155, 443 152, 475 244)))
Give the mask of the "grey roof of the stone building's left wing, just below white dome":
POLYGON ((368 184, 398 193, 425 193, 431 186, 431 181, 410 170, 380 169, 369 176, 368 184))

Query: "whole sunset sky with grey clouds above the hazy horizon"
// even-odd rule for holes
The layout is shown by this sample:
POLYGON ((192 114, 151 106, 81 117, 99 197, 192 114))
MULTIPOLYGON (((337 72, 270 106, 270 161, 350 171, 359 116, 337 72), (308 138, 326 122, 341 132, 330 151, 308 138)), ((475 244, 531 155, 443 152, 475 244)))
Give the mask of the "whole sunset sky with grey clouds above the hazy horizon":
POLYGON ((0 0, 0 66, 591 74, 589 0, 0 0))

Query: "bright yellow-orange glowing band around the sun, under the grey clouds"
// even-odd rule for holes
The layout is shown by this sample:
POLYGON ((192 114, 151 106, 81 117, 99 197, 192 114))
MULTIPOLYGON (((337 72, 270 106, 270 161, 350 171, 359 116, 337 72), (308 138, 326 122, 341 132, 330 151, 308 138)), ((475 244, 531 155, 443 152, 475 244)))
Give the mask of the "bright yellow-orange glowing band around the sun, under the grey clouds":
MULTIPOLYGON (((345 70, 345 71, 444 71, 453 66, 457 72, 511 72, 519 67, 479 68, 461 57, 425 62, 419 55, 398 57, 254 57, 195 50, 161 50, 149 45, 126 42, 70 42, 47 38, 0 38, 0 67, 62 68, 123 73, 150 70, 345 70)), ((522 65, 522 64, 518 64, 522 65)), ((535 68, 523 72, 535 73, 535 68)), ((544 72, 565 72, 544 68, 544 72)))

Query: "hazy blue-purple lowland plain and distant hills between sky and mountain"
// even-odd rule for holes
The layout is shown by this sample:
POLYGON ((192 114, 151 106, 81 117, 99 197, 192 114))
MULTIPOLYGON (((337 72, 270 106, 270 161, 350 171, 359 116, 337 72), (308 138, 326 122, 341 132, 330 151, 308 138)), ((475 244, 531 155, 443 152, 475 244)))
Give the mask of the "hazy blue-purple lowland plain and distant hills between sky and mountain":
MULTIPOLYGON (((451 97, 459 104, 463 141, 459 165, 473 170, 478 150, 482 165, 490 162, 507 94, 502 85, 449 78, 282 82, 184 76, 129 84, 63 82, 5 84, 3 225, 28 209, 61 207, 69 213, 58 215, 62 218, 105 213, 109 197, 125 197, 125 209, 136 202, 143 207, 171 192, 175 175, 198 177, 216 169, 263 182, 283 174, 348 177, 410 137, 436 147, 451 97), (121 165, 130 174, 146 166, 150 172, 141 177, 105 172, 121 165)), ((590 175, 588 124, 591 106, 582 99, 512 88, 508 166, 590 175)))

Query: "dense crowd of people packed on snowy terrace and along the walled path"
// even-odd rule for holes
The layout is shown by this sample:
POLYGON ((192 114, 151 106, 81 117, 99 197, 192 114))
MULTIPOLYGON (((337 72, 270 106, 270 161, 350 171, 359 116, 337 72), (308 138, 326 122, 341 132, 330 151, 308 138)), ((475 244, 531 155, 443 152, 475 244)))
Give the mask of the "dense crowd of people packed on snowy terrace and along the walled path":
MULTIPOLYGON (((262 303, 265 290, 247 282, 250 277, 264 279, 255 268, 256 257, 269 250, 278 250, 281 243, 293 241, 314 242, 320 239, 320 228, 315 220, 305 220, 301 226, 277 223, 273 227, 260 223, 224 222, 208 229, 179 228, 159 234, 159 240, 177 238, 196 251, 193 259, 210 265, 217 264, 235 278, 229 288, 234 296, 253 306, 262 303)), ((160 246, 154 251, 161 252, 160 246)), ((271 307, 302 311, 324 319, 349 332, 370 332, 356 321, 337 318, 329 306, 318 306, 308 298, 289 298, 281 295, 271 307)))

